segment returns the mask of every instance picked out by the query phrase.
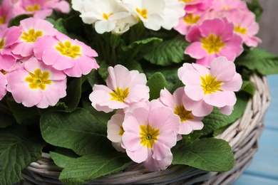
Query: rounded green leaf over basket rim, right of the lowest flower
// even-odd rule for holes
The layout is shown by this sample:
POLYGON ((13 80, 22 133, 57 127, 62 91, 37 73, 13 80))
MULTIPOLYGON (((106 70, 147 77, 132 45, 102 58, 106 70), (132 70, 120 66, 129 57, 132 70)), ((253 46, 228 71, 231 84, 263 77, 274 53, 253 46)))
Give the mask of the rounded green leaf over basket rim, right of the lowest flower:
POLYGON ((234 162, 229 143, 222 139, 204 138, 187 147, 173 149, 172 164, 185 164, 205 171, 229 171, 234 162))

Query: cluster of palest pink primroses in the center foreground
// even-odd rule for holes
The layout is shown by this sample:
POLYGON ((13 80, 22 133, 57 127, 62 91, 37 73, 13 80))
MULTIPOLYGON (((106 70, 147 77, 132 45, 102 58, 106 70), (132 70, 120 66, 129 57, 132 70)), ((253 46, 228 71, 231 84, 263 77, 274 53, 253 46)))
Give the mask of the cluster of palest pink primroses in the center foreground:
POLYGON ((123 65, 108 68, 107 86, 94 85, 90 100, 98 111, 117 110, 108 121, 108 139, 119 152, 151 171, 166 169, 172 162, 170 148, 202 129, 202 119, 219 107, 226 115, 237 100, 242 78, 235 64, 225 57, 212 60, 210 68, 184 63, 178 76, 185 87, 173 95, 165 88, 158 100, 149 101, 145 74, 123 65))

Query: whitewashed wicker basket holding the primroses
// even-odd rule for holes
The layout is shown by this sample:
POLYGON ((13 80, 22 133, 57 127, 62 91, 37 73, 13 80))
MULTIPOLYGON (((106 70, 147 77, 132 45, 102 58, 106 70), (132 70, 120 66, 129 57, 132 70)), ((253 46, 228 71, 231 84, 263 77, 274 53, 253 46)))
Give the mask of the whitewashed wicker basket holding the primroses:
MULTIPOLYGON (((142 164, 134 164, 117 174, 104 176, 88 184, 232 184, 252 162, 262 133, 263 118, 270 103, 267 78, 252 76, 257 91, 247 104, 244 115, 228 127, 217 138, 230 143, 235 154, 232 170, 217 173, 202 171, 192 167, 170 166, 159 172, 150 172, 142 164)), ((38 162, 31 163, 23 171, 26 184, 61 184, 58 176, 61 169, 48 154, 43 154, 38 162)))

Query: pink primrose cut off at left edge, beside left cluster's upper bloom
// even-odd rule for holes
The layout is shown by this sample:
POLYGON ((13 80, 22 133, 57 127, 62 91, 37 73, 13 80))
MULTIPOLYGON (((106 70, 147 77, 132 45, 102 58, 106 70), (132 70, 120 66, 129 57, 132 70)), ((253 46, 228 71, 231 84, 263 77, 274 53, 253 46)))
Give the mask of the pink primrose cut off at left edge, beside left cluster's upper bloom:
POLYGON ((0 32, 0 70, 9 70, 16 63, 16 58, 11 53, 11 46, 21 35, 21 28, 12 26, 0 32))

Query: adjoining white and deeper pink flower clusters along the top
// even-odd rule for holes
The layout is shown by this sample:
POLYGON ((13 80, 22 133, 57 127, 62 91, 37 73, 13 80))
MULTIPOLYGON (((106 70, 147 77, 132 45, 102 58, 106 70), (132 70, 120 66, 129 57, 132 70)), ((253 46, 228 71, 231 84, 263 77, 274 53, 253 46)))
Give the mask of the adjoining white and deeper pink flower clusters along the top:
POLYGON ((73 9, 81 12, 84 23, 93 24, 98 33, 121 34, 138 21, 154 31, 174 28, 192 43, 185 54, 207 67, 217 56, 235 60, 243 51, 243 43, 256 47, 261 42, 254 36, 259 31, 255 15, 240 0, 73 0, 72 3, 73 9))

